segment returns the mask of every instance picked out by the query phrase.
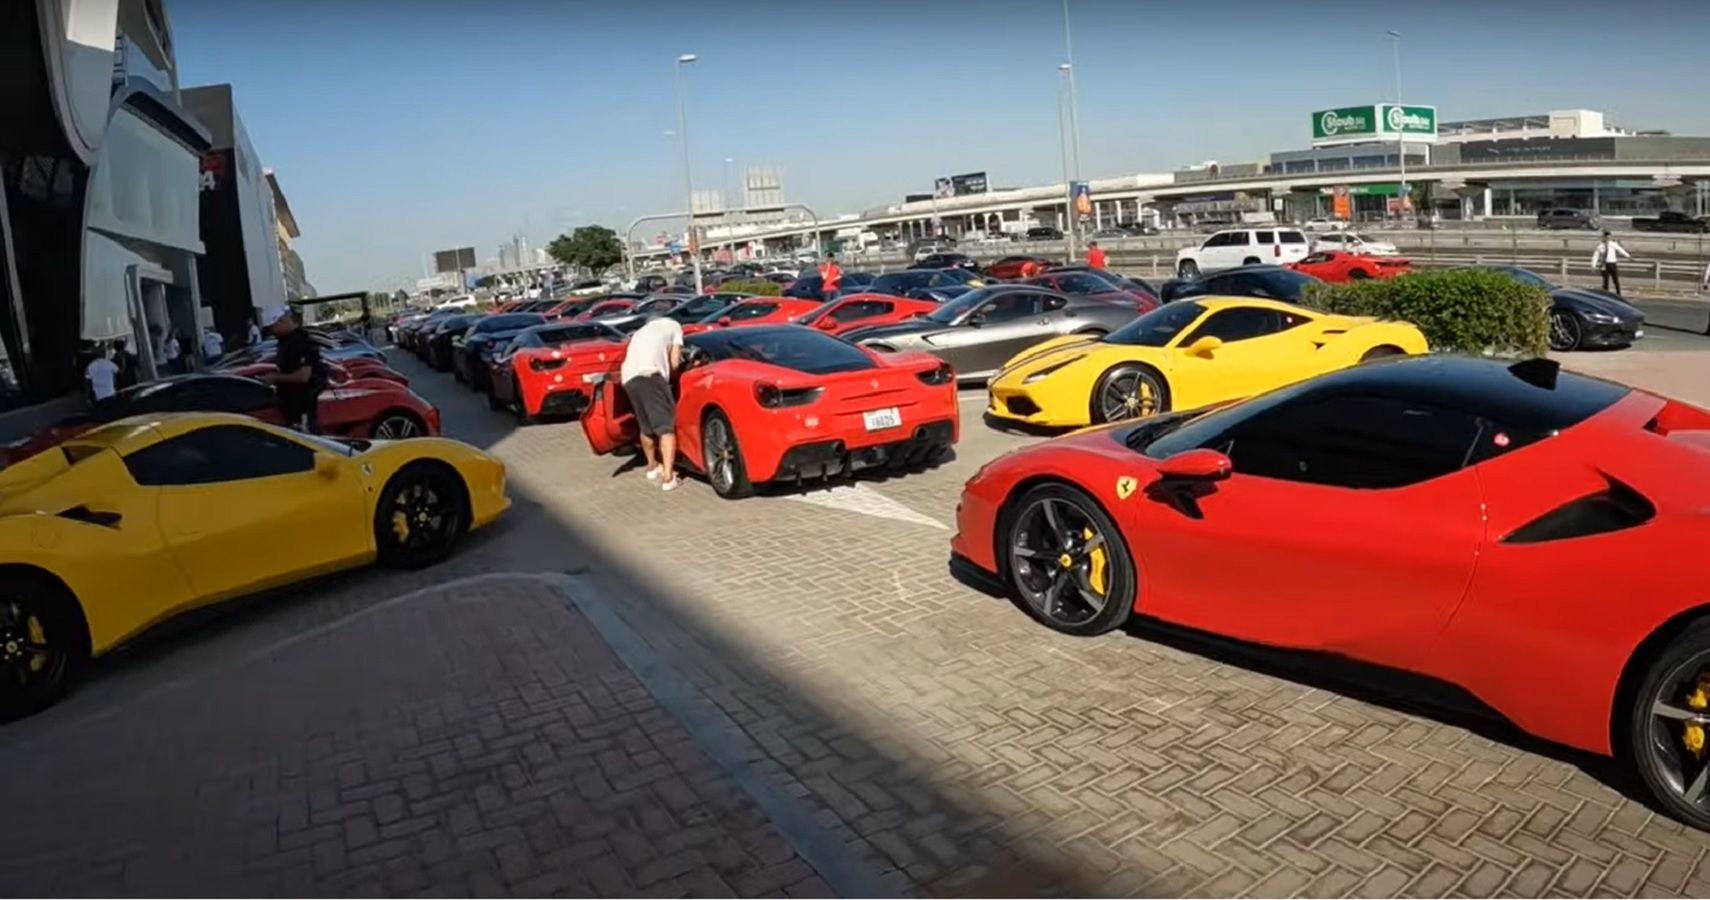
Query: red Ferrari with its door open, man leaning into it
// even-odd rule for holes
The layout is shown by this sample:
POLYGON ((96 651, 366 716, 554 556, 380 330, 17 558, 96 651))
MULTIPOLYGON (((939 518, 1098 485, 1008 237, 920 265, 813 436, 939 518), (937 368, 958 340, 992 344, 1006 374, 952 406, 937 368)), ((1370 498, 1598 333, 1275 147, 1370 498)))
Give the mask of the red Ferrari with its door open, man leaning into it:
MULTIPOLYGON (((944 459, 959 435, 956 373, 923 352, 876 354, 799 325, 718 329, 684 340, 677 452, 718 496, 756 484, 906 469, 944 459)), ((612 382, 581 414, 595 453, 634 443, 612 382)))

